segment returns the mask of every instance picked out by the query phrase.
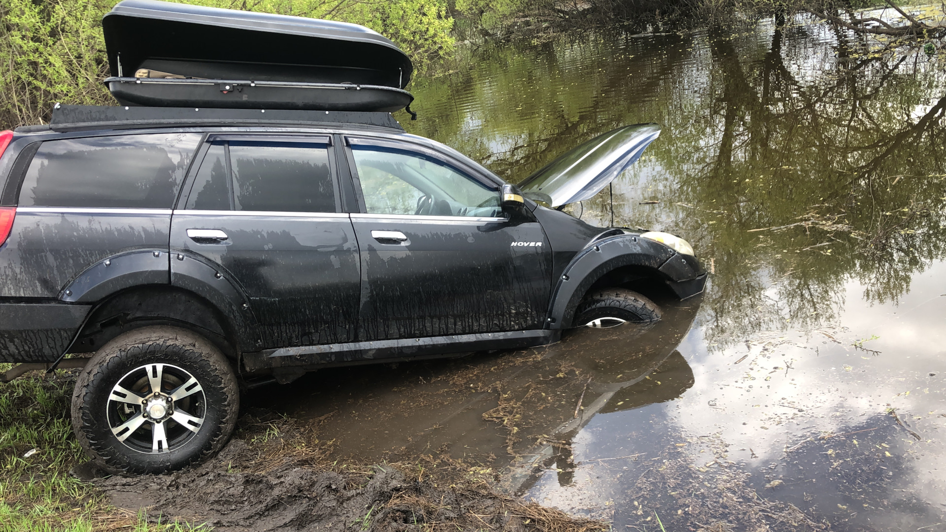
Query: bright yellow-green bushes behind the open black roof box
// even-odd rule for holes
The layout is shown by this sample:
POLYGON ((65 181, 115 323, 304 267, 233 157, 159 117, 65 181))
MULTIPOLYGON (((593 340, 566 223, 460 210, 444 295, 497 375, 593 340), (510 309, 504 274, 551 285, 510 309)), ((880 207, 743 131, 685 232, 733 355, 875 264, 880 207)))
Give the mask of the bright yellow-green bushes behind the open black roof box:
MULTIPOLYGON (((117 0, 0 0, 0 127, 42 123, 61 101, 114 105, 101 18, 117 0)), ((415 68, 453 52, 447 0, 193 0, 204 6, 324 18, 371 27, 415 68)))

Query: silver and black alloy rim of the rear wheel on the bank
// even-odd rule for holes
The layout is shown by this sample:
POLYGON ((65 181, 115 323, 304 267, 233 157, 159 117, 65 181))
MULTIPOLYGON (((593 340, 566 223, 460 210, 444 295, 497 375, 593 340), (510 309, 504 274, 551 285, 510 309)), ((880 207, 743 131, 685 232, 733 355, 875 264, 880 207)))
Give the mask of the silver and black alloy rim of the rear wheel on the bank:
POLYGON ((201 382, 173 364, 145 364, 115 382, 106 416, 115 438, 132 451, 161 454, 183 447, 203 426, 201 382))

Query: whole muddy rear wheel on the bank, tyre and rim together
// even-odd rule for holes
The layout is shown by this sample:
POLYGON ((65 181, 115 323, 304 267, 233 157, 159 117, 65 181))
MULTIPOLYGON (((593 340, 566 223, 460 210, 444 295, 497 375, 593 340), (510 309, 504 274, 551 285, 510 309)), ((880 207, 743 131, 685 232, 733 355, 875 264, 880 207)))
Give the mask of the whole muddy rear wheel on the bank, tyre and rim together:
POLYGON ((219 349, 182 328, 148 327, 100 348, 79 374, 72 427, 113 473, 177 470, 219 451, 239 395, 219 349))

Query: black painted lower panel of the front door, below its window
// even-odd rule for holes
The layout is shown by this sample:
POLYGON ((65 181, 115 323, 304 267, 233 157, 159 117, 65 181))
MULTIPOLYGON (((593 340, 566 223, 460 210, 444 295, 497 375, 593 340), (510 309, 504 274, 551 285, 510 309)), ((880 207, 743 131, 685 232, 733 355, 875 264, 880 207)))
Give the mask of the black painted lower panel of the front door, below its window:
POLYGON ((352 223, 363 275, 359 339, 544 325, 552 252, 538 222, 353 214, 352 223), (372 237, 376 230, 408 240, 385 243, 372 237))

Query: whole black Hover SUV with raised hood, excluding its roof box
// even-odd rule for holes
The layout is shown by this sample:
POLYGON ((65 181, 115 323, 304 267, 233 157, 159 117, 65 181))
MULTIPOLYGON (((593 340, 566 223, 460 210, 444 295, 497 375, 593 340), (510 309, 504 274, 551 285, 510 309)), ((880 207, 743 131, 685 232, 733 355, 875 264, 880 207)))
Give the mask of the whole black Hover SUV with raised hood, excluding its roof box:
POLYGON ((702 292, 690 245, 553 207, 658 132, 515 187, 384 112, 58 106, 0 133, 0 362, 84 365, 79 442, 155 472, 219 450, 239 382, 657 319, 632 290, 702 292))

